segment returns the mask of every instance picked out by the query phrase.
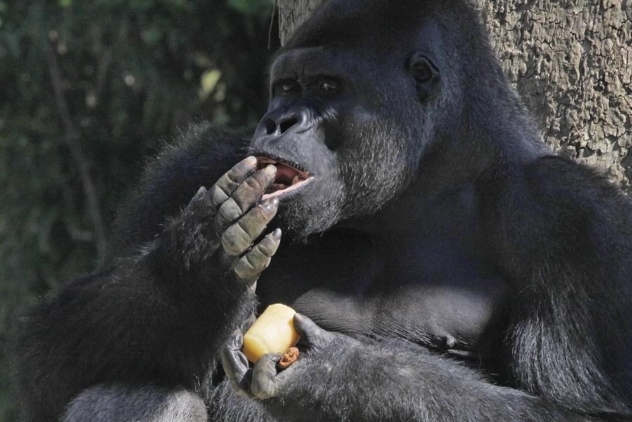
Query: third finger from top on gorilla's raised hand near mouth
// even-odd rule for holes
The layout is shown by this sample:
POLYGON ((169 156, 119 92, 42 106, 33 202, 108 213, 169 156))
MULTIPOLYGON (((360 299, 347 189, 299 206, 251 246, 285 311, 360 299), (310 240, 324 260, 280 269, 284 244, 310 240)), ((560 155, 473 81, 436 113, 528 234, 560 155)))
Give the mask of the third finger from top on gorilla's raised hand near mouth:
MULTIPOLYGON (((228 201, 227 201, 228 203, 228 201)), ((223 206, 223 205, 222 205, 223 206)), ((221 235, 221 245, 229 257, 238 257, 250 248, 276 215, 278 198, 266 200, 248 211, 221 235)))

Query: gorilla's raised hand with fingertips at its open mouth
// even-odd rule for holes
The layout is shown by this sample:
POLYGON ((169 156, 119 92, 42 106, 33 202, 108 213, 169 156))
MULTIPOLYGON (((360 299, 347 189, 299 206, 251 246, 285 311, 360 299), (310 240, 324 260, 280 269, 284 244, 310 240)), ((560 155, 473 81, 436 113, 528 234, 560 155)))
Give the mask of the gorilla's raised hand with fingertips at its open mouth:
POLYGON ((167 227, 167 257, 182 261, 186 269, 213 259, 220 274, 252 286, 280 243, 276 229, 253 246, 278 209, 276 198, 260 203, 275 175, 276 167, 257 171, 257 160, 248 157, 209 190, 200 187, 167 227))

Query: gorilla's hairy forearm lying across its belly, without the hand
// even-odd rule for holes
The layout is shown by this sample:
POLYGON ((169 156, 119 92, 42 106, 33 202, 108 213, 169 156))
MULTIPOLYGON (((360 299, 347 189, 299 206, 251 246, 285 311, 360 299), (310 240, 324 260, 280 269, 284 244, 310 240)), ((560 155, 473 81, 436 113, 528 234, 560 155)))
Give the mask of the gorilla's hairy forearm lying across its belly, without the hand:
POLYGON ((404 341, 325 353, 330 355, 326 362, 335 364, 302 371, 302 381, 271 399, 273 414, 306 422, 593 420, 492 385, 472 369, 404 341), (310 410, 314 403, 322 414, 310 410))

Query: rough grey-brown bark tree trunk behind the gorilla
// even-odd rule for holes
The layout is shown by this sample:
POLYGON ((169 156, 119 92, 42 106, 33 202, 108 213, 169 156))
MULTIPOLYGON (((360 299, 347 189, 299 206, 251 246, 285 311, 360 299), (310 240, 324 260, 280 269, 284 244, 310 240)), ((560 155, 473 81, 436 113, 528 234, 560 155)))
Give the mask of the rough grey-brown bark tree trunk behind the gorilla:
MULTIPOLYGON (((632 193, 632 0, 478 2, 544 141, 632 193)), ((320 3, 278 0, 281 44, 320 3)))

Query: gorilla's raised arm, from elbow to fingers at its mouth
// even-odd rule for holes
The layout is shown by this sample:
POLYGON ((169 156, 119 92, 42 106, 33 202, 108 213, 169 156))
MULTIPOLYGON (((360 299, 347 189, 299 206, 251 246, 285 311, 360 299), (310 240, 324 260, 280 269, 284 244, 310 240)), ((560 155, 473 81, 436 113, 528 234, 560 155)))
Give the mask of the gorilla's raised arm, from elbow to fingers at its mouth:
POLYGON ((274 174, 243 160, 208 191, 199 188, 135 257, 72 283, 27 316, 18 371, 30 419, 57 417, 91 385, 199 390, 209 381, 219 347, 254 309, 252 285, 280 242, 274 231, 256 243, 276 214, 277 200, 259 203, 274 174))

